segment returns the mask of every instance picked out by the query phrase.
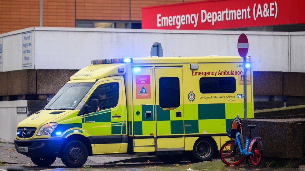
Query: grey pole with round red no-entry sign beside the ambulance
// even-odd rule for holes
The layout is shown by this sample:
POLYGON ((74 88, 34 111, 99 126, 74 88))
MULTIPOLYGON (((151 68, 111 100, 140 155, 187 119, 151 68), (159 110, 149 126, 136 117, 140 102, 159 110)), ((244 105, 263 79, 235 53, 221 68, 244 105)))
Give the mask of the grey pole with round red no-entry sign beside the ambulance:
POLYGON ((249 49, 249 42, 247 36, 242 33, 237 41, 237 50, 240 57, 243 58, 243 118, 247 119, 247 68, 251 67, 251 64, 247 64, 247 54, 249 49))

